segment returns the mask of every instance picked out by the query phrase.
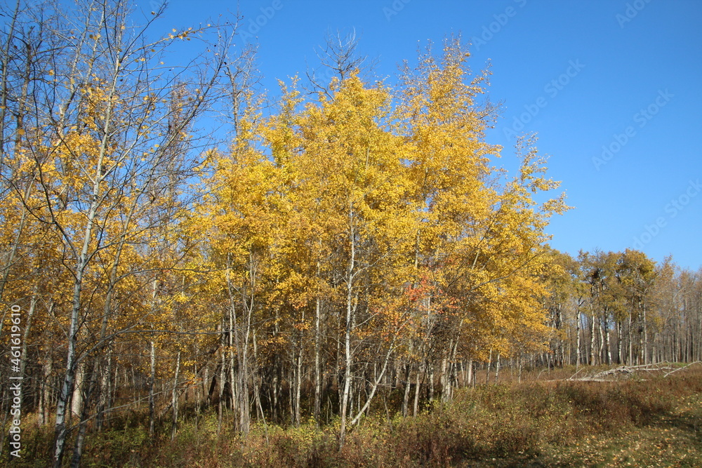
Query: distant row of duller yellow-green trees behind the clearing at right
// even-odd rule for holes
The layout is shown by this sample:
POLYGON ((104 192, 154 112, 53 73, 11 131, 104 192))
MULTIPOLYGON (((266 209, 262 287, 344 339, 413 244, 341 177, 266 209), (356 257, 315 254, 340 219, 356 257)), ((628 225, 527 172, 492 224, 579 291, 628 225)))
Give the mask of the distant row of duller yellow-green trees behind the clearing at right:
POLYGON ((632 249, 551 256, 550 365, 701 360, 702 272, 632 249))

